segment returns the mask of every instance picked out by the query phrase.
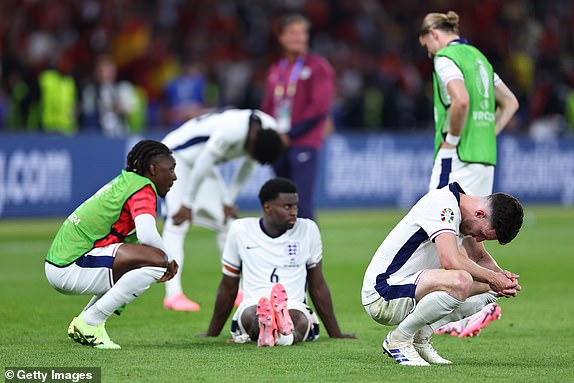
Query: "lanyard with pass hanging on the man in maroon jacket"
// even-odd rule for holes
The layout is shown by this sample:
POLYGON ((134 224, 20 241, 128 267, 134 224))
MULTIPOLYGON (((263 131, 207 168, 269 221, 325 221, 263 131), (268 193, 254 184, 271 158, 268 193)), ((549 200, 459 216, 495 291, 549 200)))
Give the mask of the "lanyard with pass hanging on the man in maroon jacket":
POLYGON ((291 107, 293 97, 297 89, 297 80, 303 69, 305 58, 299 57, 293 64, 289 79, 287 80, 287 71, 289 64, 286 59, 279 63, 279 81, 275 85, 275 118, 280 132, 288 132, 291 129, 291 107))

